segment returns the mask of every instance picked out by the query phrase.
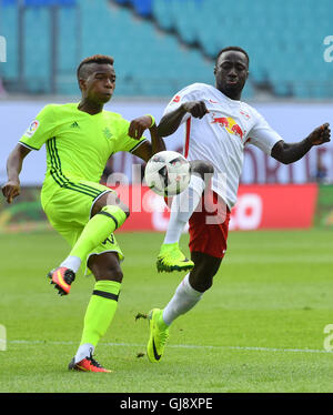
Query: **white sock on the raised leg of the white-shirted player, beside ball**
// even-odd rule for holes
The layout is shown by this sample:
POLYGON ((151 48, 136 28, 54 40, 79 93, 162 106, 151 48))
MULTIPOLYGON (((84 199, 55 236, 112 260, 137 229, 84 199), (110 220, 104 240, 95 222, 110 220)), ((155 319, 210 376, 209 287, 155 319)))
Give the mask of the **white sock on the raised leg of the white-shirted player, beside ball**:
POLYGON ((170 221, 163 243, 179 242, 185 224, 200 202, 204 185, 204 181, 199 175, 192 174, 189 186, 181 194, 173 198, 170 221))

